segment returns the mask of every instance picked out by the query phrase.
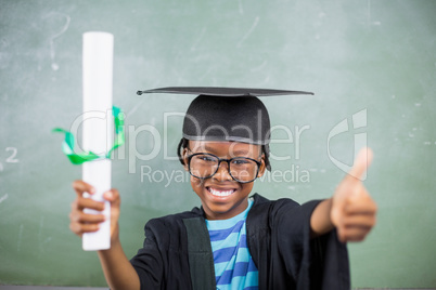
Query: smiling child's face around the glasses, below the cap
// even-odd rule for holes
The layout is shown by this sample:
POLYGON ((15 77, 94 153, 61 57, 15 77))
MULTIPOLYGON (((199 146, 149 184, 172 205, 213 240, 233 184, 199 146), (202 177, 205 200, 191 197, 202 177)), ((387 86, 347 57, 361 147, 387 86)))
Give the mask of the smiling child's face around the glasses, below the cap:
MULTIPOLYGON (((265 172, 265 161, 261 147, 238 142, 190 141, 189 149, 184 149, 183 158, 188 170, 188 156, 195 153, 208 153, 222 159, 248 157, 261 162, 260 177, 265 172)), ((253 182, 240 183, 230 176, 228 163, 221 162, 218 171, 211 177, 201 180, 191 176, 191 186, 202 200, 202 206, 208 220, 230 219, 243 212, 248 206, 248 195, 253 182)))

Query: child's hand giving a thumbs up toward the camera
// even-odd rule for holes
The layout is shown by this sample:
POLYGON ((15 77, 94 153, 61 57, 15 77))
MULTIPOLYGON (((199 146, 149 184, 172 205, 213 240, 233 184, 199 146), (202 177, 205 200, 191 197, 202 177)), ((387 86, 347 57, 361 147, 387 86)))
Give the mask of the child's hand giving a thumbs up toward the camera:
POLYGON ((377 208, 361 181, 371 160, 371 149, 361 149, 333 195, 330 217, 343 242, 363 240, 375 225, 377 208))

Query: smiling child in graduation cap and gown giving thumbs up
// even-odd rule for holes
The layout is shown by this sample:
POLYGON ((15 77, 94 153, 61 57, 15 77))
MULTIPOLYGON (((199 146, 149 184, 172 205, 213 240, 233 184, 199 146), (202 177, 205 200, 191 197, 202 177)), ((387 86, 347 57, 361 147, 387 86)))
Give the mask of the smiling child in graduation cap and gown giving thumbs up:
MULTIPOLYGON (((198 90, 202 94, 184 118, 178 155, 202 208, 151 220, 143 248, 129 261, 118 236, 119 194, 105 193, 112 206, 112 248, 99 251, 99 258, 110 287, 349 289, 344 242, 362 240, 375 224, 376 206, 359 180, 371 151, 358 155, 330 199, 299 206, 291 199, 251 196, 253 182, 270 169, 268 111, 253 96, 265 92, 222 88, 189 92, 198 90)), ((84 193, 93 193, 91 185, 76 181, 73 187, 77 199, 70 229, 79 236, 97 230, 104 216, 82 210, 102 210, 103 203, 84 198, 84 193)))

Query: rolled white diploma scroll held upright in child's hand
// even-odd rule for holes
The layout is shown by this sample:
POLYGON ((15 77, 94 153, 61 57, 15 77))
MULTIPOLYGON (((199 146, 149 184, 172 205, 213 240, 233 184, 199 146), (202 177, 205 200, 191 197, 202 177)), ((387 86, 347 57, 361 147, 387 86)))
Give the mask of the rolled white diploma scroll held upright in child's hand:
MULTIPOLYGON (((84 120, 82 148, 105 156, 113 144, 112 71, 114 36, 107 32, 84 34, 84 120)), ((82 164, 82 180, 95 188, 91 198, 104 201, 103 193, 111 189, 111 160, 98 159, 82 164)), ((104 201, 103 212, 86 209, 86 213, 103 213, 106 220, 95 233, 82 238, 86 251, 111 248, 111 205, 104 201)))

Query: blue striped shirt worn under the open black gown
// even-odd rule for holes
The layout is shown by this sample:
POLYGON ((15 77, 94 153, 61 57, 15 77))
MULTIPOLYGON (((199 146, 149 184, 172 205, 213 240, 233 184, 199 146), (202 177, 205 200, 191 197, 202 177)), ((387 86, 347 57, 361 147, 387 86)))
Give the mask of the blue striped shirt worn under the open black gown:
POLYGON ((258 289, 258 271, 246 242, 245 211, 229 220, 206 220, 214 253, 215 277, 219 290, 258 289))

